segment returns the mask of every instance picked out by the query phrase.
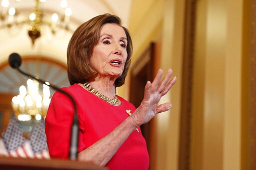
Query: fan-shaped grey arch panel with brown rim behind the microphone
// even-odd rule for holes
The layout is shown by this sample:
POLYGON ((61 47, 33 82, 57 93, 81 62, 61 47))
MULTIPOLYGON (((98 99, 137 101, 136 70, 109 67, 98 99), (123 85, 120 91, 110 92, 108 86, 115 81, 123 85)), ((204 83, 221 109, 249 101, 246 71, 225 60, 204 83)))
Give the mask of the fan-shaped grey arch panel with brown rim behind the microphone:
MULTIPOLYGON (((69 85, 66 67, 45 58, 23 58, 20 69, 57 87, 69 85)), ((28 77, 20 74, 7 64, 0 69, 0 93, 18 94, 19 87, 26 85, 28 77)), ((42 89, 42 85, 39 85, 42 89)), ((50 94, 54 90, 50 89, 50 94)))

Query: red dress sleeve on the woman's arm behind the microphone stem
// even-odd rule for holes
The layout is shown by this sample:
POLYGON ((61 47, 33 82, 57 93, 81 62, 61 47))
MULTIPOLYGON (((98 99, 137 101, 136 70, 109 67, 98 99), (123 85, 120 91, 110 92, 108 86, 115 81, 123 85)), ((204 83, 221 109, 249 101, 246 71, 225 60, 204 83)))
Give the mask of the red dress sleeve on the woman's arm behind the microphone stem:
MULTIPOLYGON (((46 141, 51 158, 68 159, 74 109, 70 99, 55 92, 45 118, 46 141)), ((78 152, 85 148, 79 131, 78 152)))

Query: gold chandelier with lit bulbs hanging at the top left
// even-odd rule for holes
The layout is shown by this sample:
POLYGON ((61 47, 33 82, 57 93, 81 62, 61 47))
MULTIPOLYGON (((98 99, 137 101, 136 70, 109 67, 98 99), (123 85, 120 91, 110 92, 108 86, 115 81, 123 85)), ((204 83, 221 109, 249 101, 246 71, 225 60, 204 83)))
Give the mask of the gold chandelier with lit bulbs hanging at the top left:
POLYGON ((69 30, 68 21, 71 15, 71 9, 67 7, 67 1, 61 0, 59 13, 53 13, 51 19, 46 18, 41 5, 46 0, 34 0, 34 7, 31 13, 21 13, 19 5, 21 0, 15 0, 10 5, 9 0, 1 1, 0 28, 11 28, 13 26, 27 25, 27 33, 31 38, 32 45, 35 40, 41 36, 42 26, 46 25, 52 34, 55 34, 57 28, 69 30))

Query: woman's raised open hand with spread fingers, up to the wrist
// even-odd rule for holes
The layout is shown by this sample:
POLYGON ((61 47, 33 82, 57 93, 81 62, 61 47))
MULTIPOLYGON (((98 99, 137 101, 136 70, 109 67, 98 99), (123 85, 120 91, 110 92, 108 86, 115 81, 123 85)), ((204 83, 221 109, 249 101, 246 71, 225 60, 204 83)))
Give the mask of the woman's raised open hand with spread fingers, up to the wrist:
POLYGON ((168 72, 161 80, 162 70, 159 69, 153 82, 147 81, 144 89, 144 98, 140 106, 132 114, 132 119, 136 127, 147 123, 155 115, 161 112, 165 112, 171 108, 171 103, 163 103, 157 106, 161 97, 164 96, 173 84, 176 82, 176 77, 170 80, 172 70, 168 69, 168 72))

